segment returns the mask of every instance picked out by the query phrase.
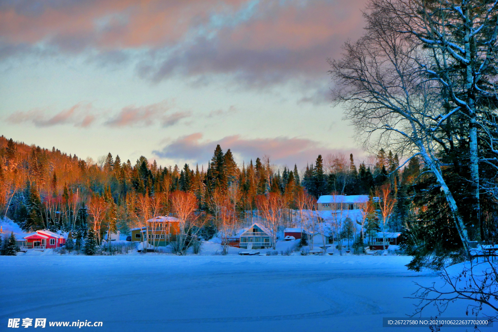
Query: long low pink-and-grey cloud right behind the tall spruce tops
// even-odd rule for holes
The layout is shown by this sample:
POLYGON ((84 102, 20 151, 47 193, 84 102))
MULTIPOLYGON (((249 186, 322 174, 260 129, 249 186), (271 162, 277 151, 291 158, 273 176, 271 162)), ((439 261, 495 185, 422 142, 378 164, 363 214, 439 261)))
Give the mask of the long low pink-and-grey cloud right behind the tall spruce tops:
POLYGON ((364 154, 360 149, 331 149, 317 141, 299 137, 250 139, 233 135, 219 140, 202 140, 202 137, 200 132, 182 136, 162 150, 154 150, 153 154, 159 158, 206 164, 211 159, 216 145, 220 144, 224 151, 231 149, 240 163, 268 155, 272 163, 290 167, 295 163, 298 167, 313 163, 319 154, 323 156, 328 153, 353 153, 356 156, 364 154))

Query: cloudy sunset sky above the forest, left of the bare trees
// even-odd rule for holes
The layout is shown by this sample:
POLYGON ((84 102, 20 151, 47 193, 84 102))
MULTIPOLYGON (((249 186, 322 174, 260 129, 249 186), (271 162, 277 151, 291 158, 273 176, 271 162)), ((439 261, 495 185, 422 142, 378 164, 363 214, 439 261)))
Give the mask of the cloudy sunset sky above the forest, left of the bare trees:
POLYGON ((1 0, 0 134, 85 159, 365 152, 327 59, 366 0, 1 0))

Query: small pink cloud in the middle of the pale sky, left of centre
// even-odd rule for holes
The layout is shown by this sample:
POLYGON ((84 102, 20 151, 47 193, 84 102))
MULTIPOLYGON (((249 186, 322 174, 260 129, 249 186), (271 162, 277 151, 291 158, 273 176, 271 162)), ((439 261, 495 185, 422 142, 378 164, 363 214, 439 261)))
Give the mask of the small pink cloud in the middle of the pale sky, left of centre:
POLYGON ((132 125, 149 126, 160 123, 163 127, 168 127, 192 115, 192 111, 170 113, 173 108, 174 106, 167 101, 142 107, 126 106, 104 124, 111 127, 124 127, 132 125))

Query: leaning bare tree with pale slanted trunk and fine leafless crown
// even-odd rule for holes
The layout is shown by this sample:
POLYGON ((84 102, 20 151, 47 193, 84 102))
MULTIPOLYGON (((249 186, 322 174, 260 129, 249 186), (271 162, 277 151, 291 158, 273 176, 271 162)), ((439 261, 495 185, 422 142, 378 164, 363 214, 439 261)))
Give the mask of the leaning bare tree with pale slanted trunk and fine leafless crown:
POLYGON ((444 107, 439 83, 427 80, 419 66, 429 51, 414 36, 393 28, 397 17, 374 11, 366 19, 367 33, 354 44, 346 43, 342 60, 329 62, 336 81, 334 98, 346 106, 346 118, 367 147, 396 147, 409 155, 406 162, 420 156, 440 186, 469 253, 467 228, 437 157, 443 149, 441 126, 460 108, 444 107))

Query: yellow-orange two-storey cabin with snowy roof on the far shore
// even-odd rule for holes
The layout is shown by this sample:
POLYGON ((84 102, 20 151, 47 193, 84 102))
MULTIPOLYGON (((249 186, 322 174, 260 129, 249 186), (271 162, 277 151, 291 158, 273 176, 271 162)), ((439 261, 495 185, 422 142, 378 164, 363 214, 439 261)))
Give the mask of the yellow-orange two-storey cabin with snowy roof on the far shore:
MULTIPOLYGON (((180 233, 180 221, 174 217, 155 217, 146 222, 146 226, 131 228, 131 241, 147 241, 150 246, 166 246, 176 241, 180 233)), ((147 246, 148 247, 148 246, 147 246)))

